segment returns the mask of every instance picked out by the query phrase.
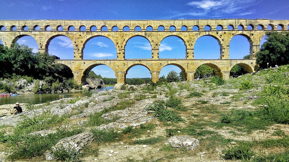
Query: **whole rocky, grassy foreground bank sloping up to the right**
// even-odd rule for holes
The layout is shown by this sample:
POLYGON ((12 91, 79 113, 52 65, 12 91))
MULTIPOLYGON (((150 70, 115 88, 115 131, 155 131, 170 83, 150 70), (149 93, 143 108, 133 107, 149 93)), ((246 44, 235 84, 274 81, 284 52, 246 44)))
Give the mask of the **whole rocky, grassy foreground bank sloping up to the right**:
POLYGON ((210 78, 156 87, 143 85, 129 91, 107 90, 92 97, 37 104, 34 110, 25 108, 21 116, 6 116, 0 121, 0 130, 12 135, 2 135, 3 139, 13 137, 15 132, 25 136, 18 145, 0 143, 0 156, 21 161, 48 161, 59 157, 99 162, 232 161, 229 158, 234 157, 232 154, 238 152, 237 149, 246 150, 239 152, 245 161, 262 159, 264 152, 266 158, 267 155, 283 156, 279 150, 288 152, 289 146, 284 145, 289 142, 288 124, 265 120, 265 116, 258 114, 263 111, 261 105, 264 106, 260 92, 267 84, 266 78, 275 73, 277 70, 246 74, 223 85, 216 85, 210 78), (249 80, 252 86, 240 88, 244 80, 249 80), (182 120, 173 118, 166 122, 161 117, 152 117, 154 113, 144 109, 153 103, 168 106, 164 110, 166 119, 169 119, 167 115, 174 114, 182 120), (37 124, 15 129, 17 123, 24 126, 28 119, 37 124), (10 125, 4 126, 5 123, 10 125), (181 148, 169 144, 170 138, 180 139, 180 136, 194 139, 187 142, 194 143, 193 149, 185 144, 179 146, 181 148), (54 142, 55 139, 58 140, 54 142), (269 143, 272 140, 274 142, 269 143), (49 146, 38 151, 34 147, 30 153, 31 145, 40 147, 44 141, 49 146), (25 149, 22 150, 25 156, 16 154, 21 148, 25 149), (39 156, 35 156, 35 152, 40 152, 39 156), (70 155, 61 154, 67 152, 70 155))

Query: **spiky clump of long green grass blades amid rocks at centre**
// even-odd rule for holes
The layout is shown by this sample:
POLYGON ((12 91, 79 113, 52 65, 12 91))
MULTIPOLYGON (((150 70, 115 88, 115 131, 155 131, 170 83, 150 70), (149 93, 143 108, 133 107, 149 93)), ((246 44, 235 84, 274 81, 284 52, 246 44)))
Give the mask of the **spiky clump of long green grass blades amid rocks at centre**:
POLYGON ((154 114, 152 117, 157 117, 160 121, 163 122, 179 123, 185 121, 180 116, 176 115, 172 110, 168 110, 168 108, 161 103, 153 103, 151 105, 147 105, 143 111, 153 111, 154 114))

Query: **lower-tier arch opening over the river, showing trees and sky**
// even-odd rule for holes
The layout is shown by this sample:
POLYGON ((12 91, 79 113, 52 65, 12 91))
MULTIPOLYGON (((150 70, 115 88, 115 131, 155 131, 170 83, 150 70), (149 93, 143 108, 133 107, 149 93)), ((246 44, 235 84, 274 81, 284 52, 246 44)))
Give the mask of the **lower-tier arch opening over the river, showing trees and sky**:
MULTIPOLYGON (((109 66, 104 64, 96 64, 89 67, 84 72, 84 82, 87 83, 87 78, 91 79, 102 79, 104 84, 107 85, 115 85, 117 83, 117 78, 115 76, 115 72, 109 66)), ((95 87, 99 88, 99 87, 95 87)))

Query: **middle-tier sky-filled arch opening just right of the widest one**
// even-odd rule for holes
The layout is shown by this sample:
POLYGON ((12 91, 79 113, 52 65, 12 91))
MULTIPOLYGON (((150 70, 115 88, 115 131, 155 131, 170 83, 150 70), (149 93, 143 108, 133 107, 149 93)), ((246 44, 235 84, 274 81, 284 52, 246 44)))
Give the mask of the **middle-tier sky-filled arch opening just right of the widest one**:
POLYGON ((125 46, 125 58, 152 58, 150 41, 143 36, 129 38, 125 46))

